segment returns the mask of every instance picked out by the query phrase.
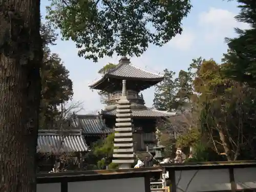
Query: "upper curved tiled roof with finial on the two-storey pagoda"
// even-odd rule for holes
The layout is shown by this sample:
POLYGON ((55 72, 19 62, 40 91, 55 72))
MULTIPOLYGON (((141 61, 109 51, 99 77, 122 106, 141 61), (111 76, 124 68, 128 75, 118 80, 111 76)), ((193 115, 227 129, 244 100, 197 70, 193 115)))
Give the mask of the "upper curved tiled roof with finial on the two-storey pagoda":
POLYGON ((142 91, 162 81, 164 76, 140 69, 132 65, 130 59, 122 57, 115 68, 106 71, 99 80, 89 85, 89 87, 107 92, 118 91, 121 90, 121 81, 124 79, 136 82, 127 83, 127 90, 129 90, 130 84, 131 87, 134 87, 130 88, 131 90, 142 91))

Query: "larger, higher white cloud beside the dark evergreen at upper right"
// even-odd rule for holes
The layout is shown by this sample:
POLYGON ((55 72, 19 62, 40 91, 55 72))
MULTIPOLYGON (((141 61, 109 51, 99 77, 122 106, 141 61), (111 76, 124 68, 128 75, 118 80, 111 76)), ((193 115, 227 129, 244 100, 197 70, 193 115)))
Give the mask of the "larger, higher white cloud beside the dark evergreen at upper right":
POLYGON ((225 37, 234 36, 234 28, 247 29, 248 25, 237 22, 234 18, 237 13, 225 9, 209 8, 207 12, 199 14, 199 27, 207 41, 223 40, 225 37))

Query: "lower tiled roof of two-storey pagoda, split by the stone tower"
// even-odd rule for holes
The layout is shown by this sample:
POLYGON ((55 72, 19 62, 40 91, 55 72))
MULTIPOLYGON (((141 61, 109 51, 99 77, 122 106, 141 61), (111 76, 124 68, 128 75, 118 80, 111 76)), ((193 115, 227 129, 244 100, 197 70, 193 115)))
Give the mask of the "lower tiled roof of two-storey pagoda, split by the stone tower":
MULTIPOLYGON (((112 111, 102 111, 104 115, 116 115, 116 109, 112 111)), ((133 110, 132 109, 132 116, 134 117, 170 117, 175 116, 176 113, 174 112, 166 112, 166 111, 158 111, 155 109, 142 109, 142 110, 133 110)))

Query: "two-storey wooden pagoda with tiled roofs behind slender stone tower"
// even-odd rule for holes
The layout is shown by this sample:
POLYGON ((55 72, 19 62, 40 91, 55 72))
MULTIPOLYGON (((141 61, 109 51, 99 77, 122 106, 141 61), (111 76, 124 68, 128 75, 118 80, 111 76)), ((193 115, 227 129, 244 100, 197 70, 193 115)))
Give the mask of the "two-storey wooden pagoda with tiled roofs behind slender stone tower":
MULTIPOLYGON (((158 119, 174 116, 176 113, 158 111, 147 108, 141 92, 164 79, 163 75, 151 73, 135 67, 130 59, 122 57, 119 64, 107 71, 99 80, 91 84, 91 89, 100 90, 109 96, 106 100, 105 109, 100 112, 106 127, 114 128, 120 120, 120 101, 125 95, 129 101, 126 111, 131 113, 133 147, 135 152, 154 151, 156 145, 156 123, 158 119), (125 90, 123 84, 125 82, 125 90), (125 93, 123 93, 125 91, 125 93), (118 117, 117 117, 118 116, 118 117)), ((125 110, 123 110, 124 112, 125 110)), ((128 114, 129 115, 129 114, 128 114)), ((95 125, 96 126, 96 125, 95 125)))

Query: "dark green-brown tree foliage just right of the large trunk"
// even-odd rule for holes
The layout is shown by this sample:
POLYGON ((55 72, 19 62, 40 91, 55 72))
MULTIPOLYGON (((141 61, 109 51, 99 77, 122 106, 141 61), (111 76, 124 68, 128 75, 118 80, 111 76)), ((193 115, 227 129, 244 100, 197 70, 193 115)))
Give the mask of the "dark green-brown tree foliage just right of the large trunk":
POLYGON ((40 128, 52 128, 56 116, 59 114, 57 107, 73 96, 73 84, 69 78, 69 71, 63 65, 59 56, 51 53, 50 45, 55 45, 57 35, 50 25, 42 24, 40 34, 44 45, 44 57, 41 67, 41 103, 40 103, 40 128))

